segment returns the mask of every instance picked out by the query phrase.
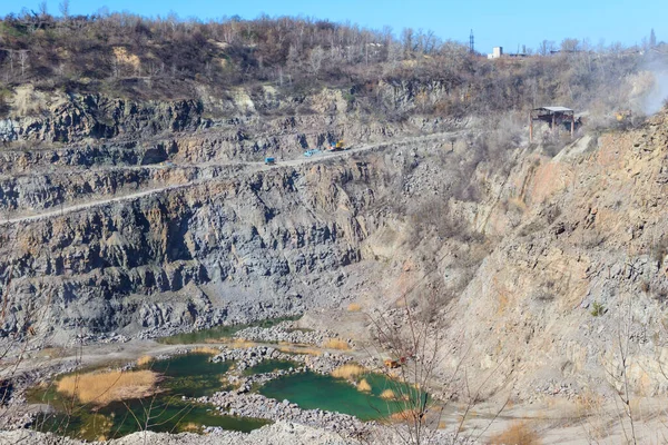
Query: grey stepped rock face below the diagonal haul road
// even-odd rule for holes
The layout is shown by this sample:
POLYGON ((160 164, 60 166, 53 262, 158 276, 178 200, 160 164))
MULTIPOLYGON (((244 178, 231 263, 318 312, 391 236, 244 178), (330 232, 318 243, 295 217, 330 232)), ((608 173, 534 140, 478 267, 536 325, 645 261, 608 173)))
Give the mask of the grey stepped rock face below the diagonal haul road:
POLYGON ((381 150, 239 171, 3 224, 0 271, 11 277, 17 308, 3 328, 22 329, 33 315, 27 305, 47 305, 43 324, 59 332, 206 326, 337 306, 351 297, 346 267, 375 257, 365 241, 394 218, 376 214, 379 200, 406 199, 386 180, 396 161, 381 150))

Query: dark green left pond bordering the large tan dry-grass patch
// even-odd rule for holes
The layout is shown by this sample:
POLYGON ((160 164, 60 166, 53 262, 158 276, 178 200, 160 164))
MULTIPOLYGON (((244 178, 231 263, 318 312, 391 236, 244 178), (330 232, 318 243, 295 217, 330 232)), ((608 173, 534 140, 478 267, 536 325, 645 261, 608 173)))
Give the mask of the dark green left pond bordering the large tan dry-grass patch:
POLYGON ((209 357, 188 354, 154 362, 145 368, 164 375, 158 384, 161 389, 158 395, 115 402, 99 408, 72 404, 71 398, 63 398, 55 388, 35 390, 30 402, 49 403, 57 409, 55 415, 38 418, 35 428, 90 441, 120 437, 143 429, 179 433, 206 425, 249 432, 266 425, 268 422, 262 419, 219 416, 209 405, 181 399, 181 396, 200 397, 224 389, 220 377, 230 364, 210 363, 209 357))

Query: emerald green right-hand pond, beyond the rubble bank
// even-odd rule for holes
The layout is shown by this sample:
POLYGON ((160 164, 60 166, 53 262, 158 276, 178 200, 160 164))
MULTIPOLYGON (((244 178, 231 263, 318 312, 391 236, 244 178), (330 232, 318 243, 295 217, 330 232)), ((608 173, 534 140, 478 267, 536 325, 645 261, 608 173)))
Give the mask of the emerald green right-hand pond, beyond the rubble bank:
POLYGON ((403 389, 403 394, 419 396, 415 389, 380 374, 367 374, 364 379, 371 385, 370 393, 357 390, 342 378, 315 373, 293 374, 266 383, 259 393, 277 400, 288 399, 304 409, 351 414, 361 421, 377 419, 405 409, 404 403, 381 398, 385 389, 392 389, 395 394, 402 394, 403 389))

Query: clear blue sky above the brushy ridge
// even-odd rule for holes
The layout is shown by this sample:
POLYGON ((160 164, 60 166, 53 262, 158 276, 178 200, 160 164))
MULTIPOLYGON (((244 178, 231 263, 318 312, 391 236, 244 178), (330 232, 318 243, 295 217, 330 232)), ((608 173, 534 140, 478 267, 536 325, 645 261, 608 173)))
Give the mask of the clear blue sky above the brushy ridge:
MULTIPOLYGON (((47 1, 49 12, 58 13, 60 0, 47 1)), ((0 14, 19 12, 22 7, 37 10, 31 2, 0 1, 0 14)), ((543 39, 589 39, 610 44, 640 43, 654 28, 658 41, 668 42, 668 1, 666 0, 580 0, 580 1, 490 1, 490 0, 70 0, 71 13, 88 14, 100 7, 143 16, 220 18, 238 14, 245 19, 261 12, 269 16, 311 16, 381 29, 387 24, 395 34, 403 28, 433 30, 442 39, 462 42, 475 34, 475 49, 491 52, 502 46, 514 52, 518 46, 537 48, 543 39)))

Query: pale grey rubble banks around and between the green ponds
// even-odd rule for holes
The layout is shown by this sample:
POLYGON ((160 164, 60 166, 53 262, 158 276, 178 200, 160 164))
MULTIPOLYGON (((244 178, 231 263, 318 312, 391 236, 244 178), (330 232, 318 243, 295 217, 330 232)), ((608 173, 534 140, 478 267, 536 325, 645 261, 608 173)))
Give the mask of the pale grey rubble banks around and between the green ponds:
MULTIPOLYGON (((218 404, 210 404, 209 397, 187 397, 184 400, 189 400, 193 403, 205 403, 210 404, 212 408, 214 408, 217 414, 222 416, 239 416, 242 412, 247 411, 248 414, 243 414, 243 417, 253 417, 253 418, 262 418, 272 422, 279 422, 284 419, 292 419, 296 423, 306 423, 313 426, 325 427, 330 429, 336 429, 337 425, 345 425, 346 429, 351 431, 360 431, 363 423, 355 419, 348 415, 342 415, 337 413, 325 413, 322 411, 304 411, 296 408, 296 405, 289 403, 287 405, 284 402, 268 399, 259 394, 248 394, 254 388, 257 388, 265 383, 283 377, 288 374, 294 373, 304 373, 307 370, 328 374, 332 369, 341 366, 342 364, 348 363, 353 359, 351 355, 345 354, 333 354, 327 350, 322 349, 322 343, 325 339, 328 339, 334 336, 333 333, 325 332, 318 333, 315 330, 299 330, 294 329, 291 320, 278 320, 281 326, 274 326, 273 324, 269 327, 262 326, 244 326, 240 330, 244 335, 253 337, 254 339, 258 339, 262 342, 272 342, 268 344, 254 344, 254 346, 247 346, 242 348, 235 348, 232 345, 226 344, 177 344, 177 345, 165 345, 161 343, 156 343, 154 340, 130 340, 130 342, 120 342, 120 344, 107 343, 104 345, 97 345, 99 349, 111 349, 115 348, 117 353, 117 357, 111 359, 111 363, 122 363, 125 360, 125 365, 111 366, 109 368, 114 369, 136 369, 141 366, 137 365, 137 359, 139 357, 144 357, 145 355, 150 355, 153 360, 165 360, 170 357, 176 357, 183 354, 191 353, 193 350, 197 350, 198 348, 208 348, 214 349, 217 348, 220 350, 219 354, 212 357, 212 362, 233 362, 234 366, 232 369, 226 372, 226 376, 229 378, 230 383, 234 383, 238 386, 237 390, 233 392, 222 392, 216 393, 216 399, 220 400, 218 404), (318 348, 318 356, 310 356, 306 353, 284 353, 281 352, 274 346, 277 345, 278 342, 286 343, 285 338, 289 337, 292 339, 298 340, 299 346, 311 346, 318 348), (315 345, 317 344, 317 345, 315 345), (121 358, 122 357, 122 358, 121 358), (265 360, 291 360, 295 363, 294 367, 289 369, 283 369, 278 372, 272 373, 259 373, 253 375, 244 375, 247 369, 252 369, 255 366, 258 366, 265 360), (223 396, 222 394, 225 394, 223 396), (248 399, 248 397, 253 395, 254 397, 248 399), (223 398, 222 398, 223 397, 223 398), (238 398, 238 400, 245 402, 234 402, 233 398, 238 398), (250 409, 247 407, 244 408, 244 403, 248 403, 248 400, 257 400, 262 399, 265 405, 269 404, 276 407, 273 412, 266 412, 262 409, 250 409), (208 402, 207 402, 208 400, 208 402), (271 402, 269 402, 271 400, 271 402), (228 405, 230 413, 226 413, 224 405, 228 405), (282 407, 282 409, 278 409, 282 407), (257 413, 257 415, 253 415, 250 413, 257 413), (289 414, 289 416, 288 416, 289 414)), ((345 344, 352 344, 350 340, 345 340, 345 344)), ((20 406, 21 409, 17 409, 17 413, 21 413, 19 416, 13 416, 13 418, 8 419, 3 425, 3 429, 13 429, 13 428, 22 428, 30 425, 35 422, 36 416, 45 411, 45 405, 38 408, 38 405, 28 404, 24 397, 24 389, 30 387, 32 384, 38 382, 52 382, 59 375, 66 373, 72 373, 77 370, 81 370, 82 368, 95 368, 96 365, 104 368, 106 364, 102 357, 100 357, 101 350, 96 350, 98 354, 94 354, 94 350, 90 349, 92 345, 82 346, 81 354, 79 357, 58 357, 56 360, 58 363, 50 363, 50 366, 42 366, 41 368, 38 366, 38 372, 24 373, 24 375, 30 374, 29 378, 26 378, 24 385, 20 393, 22 395, 20 397, 14 397, 13 405, 20 406), (89 353, 89 354, 88 354, 89 353), (68 359, 69 358, 69 359, 68 359), (72 358, 73 363, 72 363, 72 358), (101 366, 100 366, 101 365, 101 366)), ((293 346, 293 345, 291 345, 293 346)), ((213 400, 213 398, 212 398, 213 400)), ((52 409, 52 407, 48 407, 47 409, 52 409)), ((212 425, 203 425, 205 427, 204 431, 210 432, 210 428, 216 431, 223 429, 218 426, 212 425), (208 428, 208 429, 207 429, 208 428)))

